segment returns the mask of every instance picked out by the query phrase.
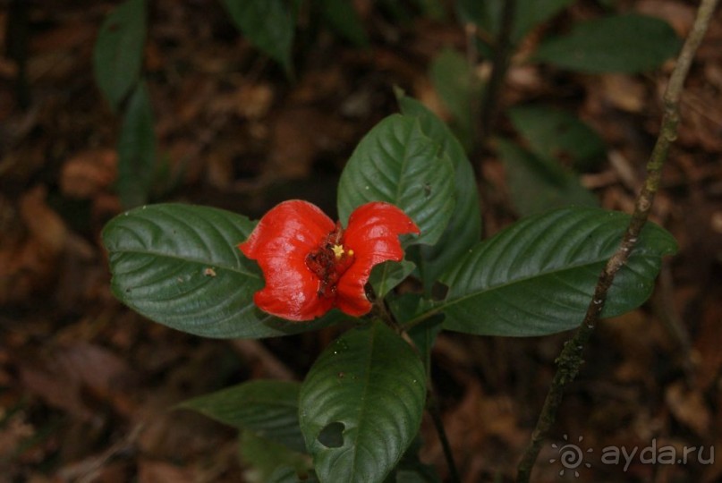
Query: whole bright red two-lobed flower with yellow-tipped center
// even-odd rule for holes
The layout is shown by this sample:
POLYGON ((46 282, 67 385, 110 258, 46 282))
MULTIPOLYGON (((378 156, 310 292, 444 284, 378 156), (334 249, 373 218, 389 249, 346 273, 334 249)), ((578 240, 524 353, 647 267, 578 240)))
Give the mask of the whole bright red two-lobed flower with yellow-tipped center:
POLYGON ((388 203, 356 208, 345 229, 315 205, 293 199, 263 216, 243 254, 258 260, 266 286, 256 305, 281 318, 310 320, 338 307, 358 317, 369 312, 364 285, 371 268, 400 261, 398 236, 420 233, 412 219, 388 203))

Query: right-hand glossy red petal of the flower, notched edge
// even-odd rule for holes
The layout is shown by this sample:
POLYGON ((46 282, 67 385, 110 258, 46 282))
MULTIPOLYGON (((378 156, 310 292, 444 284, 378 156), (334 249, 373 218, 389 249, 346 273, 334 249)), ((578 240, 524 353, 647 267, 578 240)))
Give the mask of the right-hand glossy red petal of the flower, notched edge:
POLYGON ((344 246, 353 250, 355 261, 336 285, 336 306, 358 317, 369 312, 371 304, 363 286, 371 268, 386 260, 401 261, 399 235, 420 233, 419 227, 400 208, 380 201, 356 208, 349 216, 344 246))

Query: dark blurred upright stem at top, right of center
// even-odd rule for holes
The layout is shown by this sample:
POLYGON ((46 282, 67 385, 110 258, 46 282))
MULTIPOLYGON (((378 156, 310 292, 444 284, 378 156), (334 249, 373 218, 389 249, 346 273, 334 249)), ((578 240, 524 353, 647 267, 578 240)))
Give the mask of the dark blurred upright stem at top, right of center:
POLYGON ((486 144, 491 135, 491 126, 497 117, 499 91, 504 85, 506 71, 509 68, 509 56, 512 51, 512 29, 516 0, 506 0, 501 11, 501 26, 494 45, 494 57, 491 62, 491 77, 487 89, 484 89, 484 104, 481 107, 481 144, 486 144))

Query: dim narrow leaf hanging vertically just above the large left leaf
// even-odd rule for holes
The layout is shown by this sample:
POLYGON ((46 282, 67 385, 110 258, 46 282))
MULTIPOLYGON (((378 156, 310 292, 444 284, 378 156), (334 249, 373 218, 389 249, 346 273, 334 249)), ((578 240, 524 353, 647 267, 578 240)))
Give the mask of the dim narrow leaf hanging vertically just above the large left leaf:
POLYGON ((117 190, 123 207, 137 207, 148 200, 155 173, 153 109, 145 82, 140 82, 128 101, 118 139, 117 190))

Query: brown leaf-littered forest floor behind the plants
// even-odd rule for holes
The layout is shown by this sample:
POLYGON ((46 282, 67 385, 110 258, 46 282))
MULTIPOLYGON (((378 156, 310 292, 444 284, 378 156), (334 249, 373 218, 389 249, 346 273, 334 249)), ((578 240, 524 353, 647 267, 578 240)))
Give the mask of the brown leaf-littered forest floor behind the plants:
MULTIPOLYGON (((27 99, 18 64, 0 57, 0 482, 252 481, 234 431, 169 408, 251 378, 301 380, 335 333, 207 340, 141 318, 112 296, 99 233, 123 209, 114 191, 119 120, 95 87, 91 59, 113 4, 30 2, 27 99)), ((443 47, 466 47, 451 19, 399 25, 362 1, 372 47, 328 32, 307 36, 288 80, 239 36, 221 2, 150 4, 144 72, 158 145, 175 176, 154 201, 251 218, 292 198, 333 214, 344 161, 397 111, 393 88, 445 116, 429 62, 443 47)), ((676 0, 621 4, 665 18, 680 35, 694 13, 676 0)), ((594 5, 581 2, 557 21, 594 5)), ((7 20, 0 9, 0 30, 7 20)), ((543 99, 573 109, 608 147, 582 181, 603 207, 631 212, 672 65, 582 75, 513 64, 501 103, 543 99)), ((653 208, 679 253, 665 260, 650 301, 599 325, 534 481, 722 480, 721 93, 718 15, 692 67, 653 208), (557 448, 567 443, 590 450, 591 467, 578 477, 560 475, 557 448), (602 461, 603 448, 622 446, 637 448, 629 465, 602 461), (687 462, 652 464, 667 446, 677 455, 696 449, 687 462), (653 448, 647 460, 645 448, 653 448)), ((504 119, 498 129, 511 132, 504 119)), ((471 162, 489 236, 516 214, 493 151, 479 149, 471 162)), ((464 481, 514 479, 568 336, 440 335, 433 378, 464 481)), ((423 461, 446 476, 429 421, 423 434, 423 461)))

